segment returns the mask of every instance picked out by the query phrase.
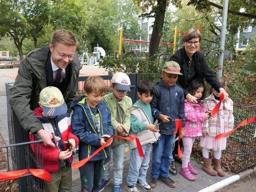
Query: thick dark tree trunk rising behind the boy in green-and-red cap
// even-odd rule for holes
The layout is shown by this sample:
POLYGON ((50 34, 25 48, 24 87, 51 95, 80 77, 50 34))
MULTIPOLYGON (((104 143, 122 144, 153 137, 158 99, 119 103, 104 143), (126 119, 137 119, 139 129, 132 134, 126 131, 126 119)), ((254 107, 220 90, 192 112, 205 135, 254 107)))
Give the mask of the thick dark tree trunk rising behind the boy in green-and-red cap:
POLYGON ((166 0, 157 0, 157 6, 155 12, 155 22, 153 25, 153 31, 150 38, 149 44, 149 55, 151 60, 157 58, 157 51, 159 47, 159 42, 162 36, 162 31, 164 27, 164 16, 166 11, 166 0))

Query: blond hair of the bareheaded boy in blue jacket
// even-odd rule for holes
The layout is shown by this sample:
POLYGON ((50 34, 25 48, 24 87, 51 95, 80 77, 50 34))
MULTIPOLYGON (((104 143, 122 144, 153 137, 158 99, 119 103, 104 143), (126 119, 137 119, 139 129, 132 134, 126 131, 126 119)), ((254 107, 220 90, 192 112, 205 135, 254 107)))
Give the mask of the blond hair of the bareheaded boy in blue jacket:
POLYGON ((104 94, 107 91, 106 83, 99 76, 90 76, 84 82, 86 93, 104 94))

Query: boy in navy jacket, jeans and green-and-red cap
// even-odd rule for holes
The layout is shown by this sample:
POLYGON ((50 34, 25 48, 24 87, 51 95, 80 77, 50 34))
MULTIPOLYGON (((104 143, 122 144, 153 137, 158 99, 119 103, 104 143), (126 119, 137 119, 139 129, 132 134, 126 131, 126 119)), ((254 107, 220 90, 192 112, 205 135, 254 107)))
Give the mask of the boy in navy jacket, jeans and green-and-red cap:
MULTIPOLYGON (((172 162, 172 150, 175 135, 175 119, 184 119, 184 93, 176 83, 180 73, 180 66, 175 61, 168 61, 162 69, 162 79, 155 86, 153 99, 150 102, 155 119, 158 119, 159 133, 157 143, 153 143, 153 159, 150 178, 151 188, 156 188, 158 178, 168 187, 175 187, 176 183, 169 178, 169 166, 172 162)), ((185 123, 182 121, 181 135, 185 133, 185 123)))

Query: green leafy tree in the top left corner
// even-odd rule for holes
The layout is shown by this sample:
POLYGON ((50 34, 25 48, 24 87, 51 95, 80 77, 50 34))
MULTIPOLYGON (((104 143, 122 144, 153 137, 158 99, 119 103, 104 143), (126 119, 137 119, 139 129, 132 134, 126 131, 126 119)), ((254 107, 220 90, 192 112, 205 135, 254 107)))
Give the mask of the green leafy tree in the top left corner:
POLYGON ((47 0, 3 0, 0 1, 0 36, 13 39, 23 58, 22 45, 26 38, 33 37, 37 47, 37 38, 49 18, 49 1, 47 0))

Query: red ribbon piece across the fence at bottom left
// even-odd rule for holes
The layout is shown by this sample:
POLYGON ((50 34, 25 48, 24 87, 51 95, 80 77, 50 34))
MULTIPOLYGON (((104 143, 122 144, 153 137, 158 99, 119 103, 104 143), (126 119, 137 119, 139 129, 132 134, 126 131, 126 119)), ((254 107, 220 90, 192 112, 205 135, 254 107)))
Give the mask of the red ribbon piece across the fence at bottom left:
POLYGON ((26 173, 30 173, 31 175, 44 179, 45 181, 48 181, 48 182, 52 181, 50 173, 42 169, 23 169, 19 171, 9 171, 5 173, 0 173, 0 181, 17 179, 26 173))

